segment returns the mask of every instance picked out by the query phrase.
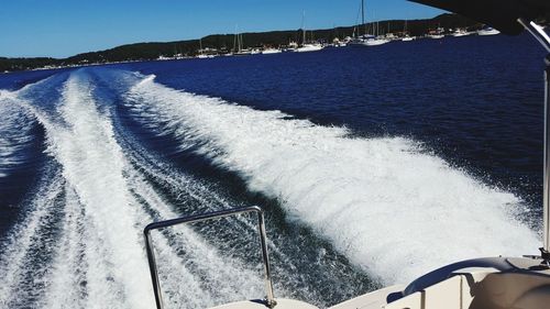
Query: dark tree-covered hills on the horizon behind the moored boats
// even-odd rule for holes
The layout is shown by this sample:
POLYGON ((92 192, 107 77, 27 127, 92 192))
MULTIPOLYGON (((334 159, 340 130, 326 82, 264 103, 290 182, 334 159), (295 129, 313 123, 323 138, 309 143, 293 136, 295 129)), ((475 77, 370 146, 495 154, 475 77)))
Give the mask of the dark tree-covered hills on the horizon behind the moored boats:
MULTIPOLYGON (((339 26, 334 29, 314 30, 307 31, 307 40, 332 42, 334 37, 343 38, 352 36, 354 31, 363 34, 365 29, 372 29, 374 24, 356 25, 356 26, 339 26)), ((476 30, 482 24, 457 15, 457 14, 441 14, 429 20, 389 20, 381 21, 377 23, 378 33, 398 33, 403 32, 405 26, 410 35, 419 36, 426 34, 429 30, 436 27, 455 29, 466 27, 469 30, 476 30)), ((301 30, 290 31, 271 31, 271 32, 253 32, 243 33, 244 47, 261 47, 271 46, 279 47, 286 46, 289 42, 301 43, 301 30)), ((0 73, 13 71, 23 69, 33 69, 46 66, 70 66, 70 65, 86 65, 86 64, 101 64, 113 62, 129 62, 129 60, 151 60, 160 56, 195 56, 198 54, 200 46, 204 49, 215 48, 221 53, 229 52, 233 48, 235 34, 215 34, 208 35, 200 40, 187 40, 166 43, 135 43, 118 46, 111 49, 90 52, 78 54, 64 59, 40 57, 40 58, 2 58, 0 57, 0 73)))

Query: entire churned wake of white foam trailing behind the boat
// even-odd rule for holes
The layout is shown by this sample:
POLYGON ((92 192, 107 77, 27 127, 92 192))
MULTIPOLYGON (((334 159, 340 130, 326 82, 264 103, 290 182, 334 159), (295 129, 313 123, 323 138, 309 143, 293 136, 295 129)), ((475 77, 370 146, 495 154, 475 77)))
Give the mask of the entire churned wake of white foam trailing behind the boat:
MULTIPOLYGON (((271 210, 276 296, 319 307, 461 258, 531 253, 538 243, 517 219, 526 210, 516 196, 414 141, 354 139, 345 128, 172 89, 155 76, 59 73, 0 90, 0 181, 32 155, 43 162, 0 234, 0 308, 153 308, 143 228, 250 206, 246 195, 271 210), (38 152, 26 151, 36 143, 38 152), (246 188, 234 194, 188 173, 164 155, 168 146, 246 188)), ((251 218, 153 236, 168 308, 264 296, 251 218)))

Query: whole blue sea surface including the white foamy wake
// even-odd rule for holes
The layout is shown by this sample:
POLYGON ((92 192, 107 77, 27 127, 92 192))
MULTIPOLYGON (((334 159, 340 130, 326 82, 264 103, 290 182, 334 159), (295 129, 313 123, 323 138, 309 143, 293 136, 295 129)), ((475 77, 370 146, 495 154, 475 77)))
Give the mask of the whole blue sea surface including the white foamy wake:
MULTIPOLYGON (((0 74, 0 308, 154 308, 143 229, 264 209, 276 298, 320 308, 537 254, 527 34, 0 74)), ((255 216, 152 233, 166 308, 265 297, 255 216)))

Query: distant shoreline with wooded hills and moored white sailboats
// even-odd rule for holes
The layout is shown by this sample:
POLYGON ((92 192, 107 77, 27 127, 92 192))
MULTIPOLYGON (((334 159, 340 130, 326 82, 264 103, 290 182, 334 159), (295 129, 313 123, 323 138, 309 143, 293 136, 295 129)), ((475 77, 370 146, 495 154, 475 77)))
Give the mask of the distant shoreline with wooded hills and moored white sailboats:
MULTIPOLYGON (((358 3, 364 3, 364 0, 358 3)), ((319 52, 346 46, 374 47, 387 43, 413 42, 422 38, 449 40, 466 35, 498 34, 496 30, 487 31, 483 23, 449 13, 438 15, 432 20, 369 21, 363 16, 365 11, 362 8, 363 5, 359 10, 359 16, 362 16, 361 20, 356 21, 356 24, 352 26, 337 26, 332 30, 306 30, 304 11, 300 27, 295 31, 284 31, 284 36, 279 36, 280 32, 251 33, 235 26, 232 34, 208 35, 197 40, 172 43, 122 45, 113 48, 113 51, 78 54, 66 59, 40 59, 37 65, 25 64, 25 59, 13 59, 22 62, 22 64, 13 64, 10 67, 8 63, 3 70, 2 58, 0 58, 0 71, 41 70, 143 60, 211 59, 220 56, 319 52), (270 43, 262 43, 264 41, 270 43), (140 52, 142 48, 146 53, 140 52), (106 55, 102 53, 106 53, 106 55), (40 63, 43 62, 45 64, 41 65, 40 63)))

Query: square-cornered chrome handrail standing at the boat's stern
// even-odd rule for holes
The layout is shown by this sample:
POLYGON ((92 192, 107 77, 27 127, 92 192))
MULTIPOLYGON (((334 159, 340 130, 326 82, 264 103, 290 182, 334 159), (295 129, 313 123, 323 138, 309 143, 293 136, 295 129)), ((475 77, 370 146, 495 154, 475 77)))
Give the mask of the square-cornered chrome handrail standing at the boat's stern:
POLYGON ((263 263, 264 263, 264 282, 265 282, 265 290, 266 290, 266 295, 267 295, 266 299, 264 300, 264 304, 268 308, 273 308, 273 307, 275 307, 275 305, 277 305, 277 302, 275 301, 275 297, 273 295, 273 283, 272 283, 271 271, 270 271, 270 260, 268 260, 268 255, 267 255, 267 243, 266 243, 267 238, 266 238, 266 233, 265 233, 264 212, 260 207, 251 206, 251 207, 213 211, 213 212, 196 214, 196 216, 190 216, 190 217, 183 217, 183 218, 177 218, 177 219, 172 219, 172 220, 166 220, 166 221, 153 222, 153 223, 148 224, 147 227, 145 227, 145 229, 143 230, 143 234, 145 235, 145 249, 147 251, 148 267, 151 271, 151 279, 153 280, 153 290, 155 293, 155 301, 156 301, 157 309, 163 309, 164 302, 163 302, 163 296, 161 293, 161 284, 158 282, 158 271, 156 267, 155 254, 153 252, 153 240, 151 239, 151 231, 157 230, 157 229, 163 229, 163 228, 168 228, 168 227, 173 227, 173 225, 177 225, 177 224, 183 224, 183 223, 197 223, 197 222, 202 222, 202 221, 207 221, 207 220, 221 219, 221 218, 226 218, 229 216, 241 214, 241 213, 245 213, 245 212, 256 212, 257 213, 257 231, 260 233, 260 242, 261 242, 261 246, 262 246, 262 258, 263 258, 263 263))

